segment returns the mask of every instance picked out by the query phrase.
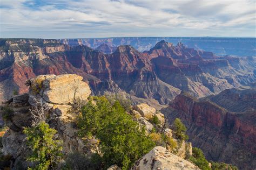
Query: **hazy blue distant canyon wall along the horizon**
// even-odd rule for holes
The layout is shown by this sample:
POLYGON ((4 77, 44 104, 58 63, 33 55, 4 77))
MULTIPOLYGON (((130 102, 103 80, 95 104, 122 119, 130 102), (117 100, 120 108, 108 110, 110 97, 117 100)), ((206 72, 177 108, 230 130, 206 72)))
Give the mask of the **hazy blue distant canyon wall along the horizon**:
POLYGON ((71 46, 86 45, 97 48, 101 44, 111 47, 131 45, 138 51, 149 51, 157 42, 165 40, 178 44, 182 42, 190 48, 211 51, 217 55, 255 56, 255 38, 221 38, 221 37, 114 37, 114 38, 78 38, 59 39, 71 46))

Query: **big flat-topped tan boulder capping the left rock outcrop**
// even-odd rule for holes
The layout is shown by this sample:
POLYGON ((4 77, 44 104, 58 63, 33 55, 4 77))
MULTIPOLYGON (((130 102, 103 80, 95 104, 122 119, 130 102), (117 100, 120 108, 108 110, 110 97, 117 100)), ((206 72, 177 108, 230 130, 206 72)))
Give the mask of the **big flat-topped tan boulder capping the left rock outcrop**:
POLYGON ((86 100, 91 94, 90 87, 83 82, 83 77, 76 74, 39 75, 30 79, 29 102, 43 98, 52 104, 73 104, 77 99, 86 100))

